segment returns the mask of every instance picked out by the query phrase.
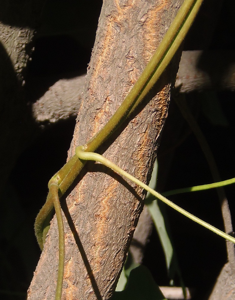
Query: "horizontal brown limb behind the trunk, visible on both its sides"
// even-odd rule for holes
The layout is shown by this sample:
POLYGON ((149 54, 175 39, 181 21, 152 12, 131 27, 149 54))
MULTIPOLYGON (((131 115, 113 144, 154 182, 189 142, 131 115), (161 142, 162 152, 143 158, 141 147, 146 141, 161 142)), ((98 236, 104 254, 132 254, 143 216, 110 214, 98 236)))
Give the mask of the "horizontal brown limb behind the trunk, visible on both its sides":
MULTIPOLYGON (((183 51, 175 86, 180 93, 205 89, 233 91, 235 64, 232 51, 183 51)), ((32 106, 37 122, 54 123, 77 116, 80 108, 85 76, 60 79, 32 106)))

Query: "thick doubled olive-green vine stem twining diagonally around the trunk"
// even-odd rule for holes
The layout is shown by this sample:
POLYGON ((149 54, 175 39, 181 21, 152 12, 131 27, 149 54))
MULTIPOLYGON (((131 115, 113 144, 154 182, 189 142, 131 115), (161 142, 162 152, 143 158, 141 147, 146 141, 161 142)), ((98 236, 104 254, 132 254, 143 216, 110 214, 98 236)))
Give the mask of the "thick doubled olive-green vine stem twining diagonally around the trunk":
MULTIPOLYGON (((94 152, 102 143, 124 122, 130 113, 138 106, 138 104, 147 95, 149 90, 161 76, 176 50, 183 41, 188 32, 203 0, 185 0, 181 5, 176 18, 160 45, 155 51, 155 54, 145 67, 140 78, 137 80, 129 94, 124 99, 123 103, 117 109, 115 114, 106 123, 106 125, 87 143, 87 151, 94 152)), ((74 155, 53 177, 59 176, 59 197, 61 197, 70 187, 74 179, 82 170, 82 163, 76 155, 74 155)), ((49 190, 47 200, 39 211, 35 221, 35 234, 38 244, 43 249, 45 236, 49 229, 48 215, 53 209, 53 199, 49 190)))

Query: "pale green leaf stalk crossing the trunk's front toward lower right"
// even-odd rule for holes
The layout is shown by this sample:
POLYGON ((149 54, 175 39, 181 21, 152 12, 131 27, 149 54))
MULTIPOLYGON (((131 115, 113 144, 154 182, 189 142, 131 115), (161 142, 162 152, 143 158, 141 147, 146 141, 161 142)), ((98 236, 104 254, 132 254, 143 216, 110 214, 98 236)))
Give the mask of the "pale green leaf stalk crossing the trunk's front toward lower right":
POLYGON ((226 234, 225 232, 217 229, 216 227, 206 223, 205 221, 199 219, 198 217, 194 216, 193 214, 190 214, 188 211, 184 210, 183 208, 179 207, 175 203, 171 202, 164 196, 162 196, 160 193, 156 192, 155 190, 151 189, 148 187, 146 184, 135 178, 134 176, 130 175, 129 173, 125 172, 121 168, 119 168, 117 165, 109 161, 108 159, 104 158, 102 155, 93 153, 93 152, 86 152, 87 146, 77 146, 76 147, 76 154, 81 160, 89 160, 89 161, 98 161, 101 164, 105 165, 106 167, 109 167, 110 169, 114 170, 115 172, 119 173, 120 175, 126 177, 127 179, 131 180, 135 184, 138 184, 141 186, 143 189, 147 190, 149 193, 151 193, 153 196, 156 198, 160 199, 162 202, 166 203, 169 205, 171 208, 175 209, 176 211, 180 212, 183 214, 185 217, 190 218, 194 222, 202 225, 203 227, 211 230, 212 232, 220 235, 221 237, 227 239, 228 241, 231 241, 235 244, 235 238, 232 237, 231 235, 226 234))

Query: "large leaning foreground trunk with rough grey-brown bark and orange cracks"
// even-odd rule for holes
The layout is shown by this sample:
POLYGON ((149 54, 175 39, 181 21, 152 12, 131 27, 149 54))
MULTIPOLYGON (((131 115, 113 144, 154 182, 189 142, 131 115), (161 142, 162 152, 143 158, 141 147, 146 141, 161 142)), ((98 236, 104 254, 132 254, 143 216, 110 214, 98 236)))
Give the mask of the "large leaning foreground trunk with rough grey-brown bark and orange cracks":
MULTIPOLYGON (((106 0, 88 67, 83 101, 68 157, 102 128, 137 80, 170 26, 181 0, 106 0)), ((178 59, 170 64, 130 122, 99 149, 121 168, 149 182, 158 137, 167 117, 178 59), (152 98, 153 95, 156 95, 152 98), (152 99, 151 99, 152 98, 152 99)), ((63 204, 63 298, 108 299, 143 208, 145 192, 100 164, 88 163, 63 204), (78 182, 78 183, 77 183, 78 182)), ((57 221, 28 290, 28 299, 53 299, 57 277, 57 221)))

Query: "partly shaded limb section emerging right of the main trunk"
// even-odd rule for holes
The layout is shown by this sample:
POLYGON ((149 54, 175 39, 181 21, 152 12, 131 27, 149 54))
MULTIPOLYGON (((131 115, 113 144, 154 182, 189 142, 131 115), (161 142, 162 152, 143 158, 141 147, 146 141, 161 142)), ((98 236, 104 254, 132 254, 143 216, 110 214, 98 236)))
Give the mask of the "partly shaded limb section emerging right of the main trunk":
POLYGON ((234 51, 183 51, 176 76, 181 93, 235 89, 234 51))

